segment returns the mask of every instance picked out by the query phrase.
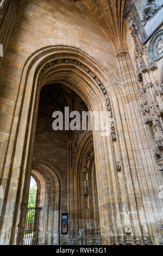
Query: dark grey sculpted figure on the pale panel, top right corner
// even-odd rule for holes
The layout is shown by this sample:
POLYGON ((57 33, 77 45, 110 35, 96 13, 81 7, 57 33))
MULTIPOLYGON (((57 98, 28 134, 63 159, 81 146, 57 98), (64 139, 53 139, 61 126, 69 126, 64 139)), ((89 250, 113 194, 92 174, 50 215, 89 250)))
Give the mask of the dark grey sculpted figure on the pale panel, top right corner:
POLYGON ((143 26, 146 25, 147 21, 156 13, 156 11, 162 8, 162 5, 155 4, 155 0, 145 0, 145 4, 143 7, 143 26))

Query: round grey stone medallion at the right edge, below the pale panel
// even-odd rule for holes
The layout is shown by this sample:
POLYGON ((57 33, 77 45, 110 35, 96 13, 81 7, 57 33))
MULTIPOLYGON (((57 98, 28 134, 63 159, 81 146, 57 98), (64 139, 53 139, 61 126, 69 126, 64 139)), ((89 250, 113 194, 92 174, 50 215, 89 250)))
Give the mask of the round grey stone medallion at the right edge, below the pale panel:
POLYGON ((148 57, 154 62, 163 57, 163 29, 157 31, 149 42, 148 57))

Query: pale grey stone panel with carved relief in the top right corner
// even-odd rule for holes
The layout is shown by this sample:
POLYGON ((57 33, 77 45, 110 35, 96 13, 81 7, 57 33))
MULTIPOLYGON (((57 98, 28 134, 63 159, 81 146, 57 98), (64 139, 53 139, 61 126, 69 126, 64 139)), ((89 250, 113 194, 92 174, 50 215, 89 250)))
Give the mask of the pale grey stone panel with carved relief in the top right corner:
POLYGON ((163 24, 163 0, 135 0, 130 11, 145 44, 163 24))

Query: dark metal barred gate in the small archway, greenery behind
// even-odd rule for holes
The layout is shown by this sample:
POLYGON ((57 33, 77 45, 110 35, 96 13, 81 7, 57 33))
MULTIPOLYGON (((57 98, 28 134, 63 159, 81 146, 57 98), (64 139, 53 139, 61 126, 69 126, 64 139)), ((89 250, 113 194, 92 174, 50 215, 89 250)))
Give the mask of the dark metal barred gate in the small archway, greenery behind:
POLYGON ((39 220, 41 208, 28 208, 26 227, 24 230, 24 245, 38 245, 39 220))

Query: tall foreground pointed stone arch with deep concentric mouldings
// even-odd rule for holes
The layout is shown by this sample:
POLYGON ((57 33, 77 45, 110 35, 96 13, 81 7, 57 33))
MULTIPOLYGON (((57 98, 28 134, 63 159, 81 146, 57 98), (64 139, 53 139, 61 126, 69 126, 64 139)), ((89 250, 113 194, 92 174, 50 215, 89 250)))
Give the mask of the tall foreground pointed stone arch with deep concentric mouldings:
MULTIPOLYGON (((134 155, 131 151, 135 159, 129 159, 121 121, 116 127, 115 113, 116 118, 120 113, 112 80, 95 60, 79 48, 61 45, 37 50, 22 68, 2 172, 4 200, 1 204, 0 243, 23 243, 40 90, 45 84, 58 82, 66 84, 82 97, 89 110, 108 111, 110 118, 109 136, 101 137, 101 131, 93 131, 102 244, 151 243, 151 239, 158 243, 158 218, 152 206, 154 193, 149 196, 149 187, 151 190, 153 187, 150 183, 147 190, 144 189, 136 170, 135 159, 139 153, 134 155), (151 198, 148 205, 146 197, 151 198), (148 209, 153 212, 150 221, 145 213, 148 209)), ((129 134, 127 125, 124 127, 129 134)), ((128 143, 131 148, 131 142, 128 143)))

